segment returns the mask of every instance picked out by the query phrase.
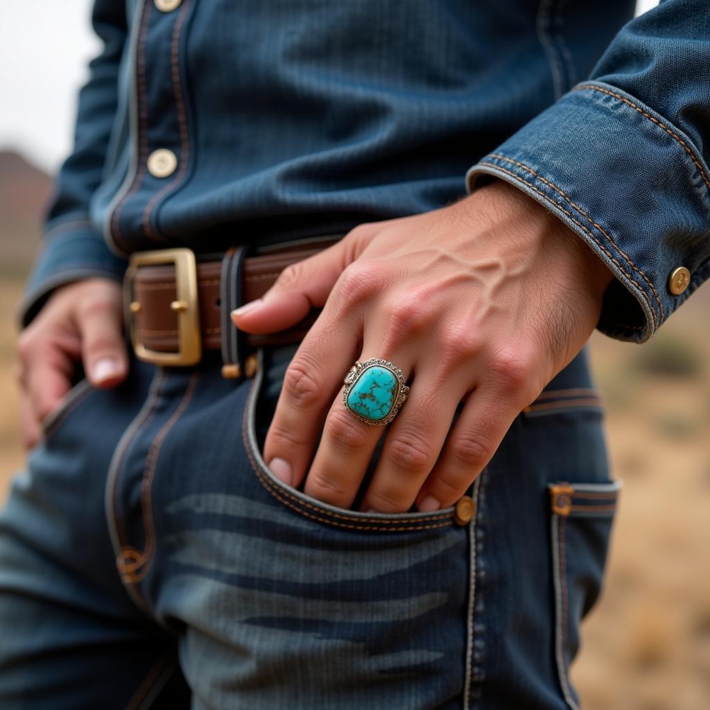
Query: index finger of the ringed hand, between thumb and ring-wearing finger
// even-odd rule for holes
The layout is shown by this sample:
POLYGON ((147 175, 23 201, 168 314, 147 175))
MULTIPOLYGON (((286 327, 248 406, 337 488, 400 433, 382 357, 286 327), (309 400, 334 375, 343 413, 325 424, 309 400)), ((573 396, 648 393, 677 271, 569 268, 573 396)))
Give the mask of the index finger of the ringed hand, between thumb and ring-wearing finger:
POLYGON ((325 413, 361 348, 361 320, 326 307, 290 362, 264 442, 264 460, 288 486, 299 486, 325 413))

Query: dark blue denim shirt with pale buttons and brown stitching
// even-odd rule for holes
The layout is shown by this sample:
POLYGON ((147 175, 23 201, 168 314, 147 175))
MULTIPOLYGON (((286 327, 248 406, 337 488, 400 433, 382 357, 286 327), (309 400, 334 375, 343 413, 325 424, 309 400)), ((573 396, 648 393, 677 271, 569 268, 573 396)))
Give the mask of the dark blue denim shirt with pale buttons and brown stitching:
POLYGON ((23 322, 131 251, 334 234, 499 178, 611 268, 599 328, 643 342, 710 273, 710 3, 633 6, 96 0, 23 322))

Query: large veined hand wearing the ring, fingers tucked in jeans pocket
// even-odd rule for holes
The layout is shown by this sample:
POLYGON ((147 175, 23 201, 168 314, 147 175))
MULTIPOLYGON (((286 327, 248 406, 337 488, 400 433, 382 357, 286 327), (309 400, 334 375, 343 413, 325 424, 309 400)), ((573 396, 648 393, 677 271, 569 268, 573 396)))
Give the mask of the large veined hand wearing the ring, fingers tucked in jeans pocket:
POLYGON ((346 410, 343 378, 356 359, 381 358, 411 390, 361 508, 452 505, 584 346, 611 278, 579 236, 504 182, 361 224, 234 312, 239 328, 268 333, 323 307, 285 374, 264 460, 286 484, 305 477, 307 495, 349 508, 382 428, 346 410))

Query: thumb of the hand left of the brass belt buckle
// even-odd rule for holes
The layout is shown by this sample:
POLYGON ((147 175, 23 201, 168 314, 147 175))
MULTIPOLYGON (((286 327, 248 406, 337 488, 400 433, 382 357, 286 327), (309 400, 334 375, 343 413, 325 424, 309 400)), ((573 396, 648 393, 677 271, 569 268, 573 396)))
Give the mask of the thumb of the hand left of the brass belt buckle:
POLYGON ((80 308, 77 325, 82 336, 82 361, 94 387, 110 388, 128 374, 118 297, 97 299, 80 308))

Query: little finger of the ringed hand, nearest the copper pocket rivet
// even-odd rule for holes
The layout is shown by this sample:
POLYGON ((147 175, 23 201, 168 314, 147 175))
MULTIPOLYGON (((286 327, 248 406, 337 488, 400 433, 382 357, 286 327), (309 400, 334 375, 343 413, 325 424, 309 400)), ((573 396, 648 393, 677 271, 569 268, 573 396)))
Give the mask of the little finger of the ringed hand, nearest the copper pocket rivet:
POLYGON ((417 508, 451 506, 491 460, 520 408, 497 388, 474 390, 449 433, 442 455, 417 496, 417 508))

